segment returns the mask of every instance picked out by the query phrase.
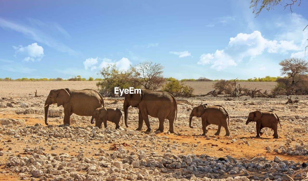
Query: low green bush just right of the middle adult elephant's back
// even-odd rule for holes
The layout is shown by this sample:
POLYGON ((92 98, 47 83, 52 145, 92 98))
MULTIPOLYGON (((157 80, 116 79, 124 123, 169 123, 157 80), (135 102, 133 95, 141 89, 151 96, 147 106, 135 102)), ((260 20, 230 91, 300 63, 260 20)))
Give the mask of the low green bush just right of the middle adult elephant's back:
POLYGON ((184 86, 184 83, 180 83, 177 80, 170 81, 162 86, 163 90, 171 93, 173 96, 193 97, 194 89, 189 86, 184 86))

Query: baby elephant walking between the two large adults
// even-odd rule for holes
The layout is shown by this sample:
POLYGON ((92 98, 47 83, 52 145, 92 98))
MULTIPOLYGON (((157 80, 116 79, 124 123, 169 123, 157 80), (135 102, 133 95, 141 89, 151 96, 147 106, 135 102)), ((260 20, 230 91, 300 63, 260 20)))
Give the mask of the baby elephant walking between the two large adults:
POLYGON ((107 127, 107 121, 115 123, 115 129, 120 128, 119 122, 123 116, 122 112, 118 108, 114 107, 99 107, 95 109, 92 113, 91 124, 93 124, 93 119, 95 118, 95 126, 101 128, 102 122, 104 123, 105 128, 107 127))

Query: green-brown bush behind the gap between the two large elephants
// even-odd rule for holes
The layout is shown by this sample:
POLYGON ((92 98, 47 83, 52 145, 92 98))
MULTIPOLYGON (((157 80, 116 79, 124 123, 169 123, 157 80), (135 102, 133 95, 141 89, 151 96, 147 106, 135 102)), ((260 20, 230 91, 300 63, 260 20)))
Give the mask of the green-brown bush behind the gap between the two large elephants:
POLYGON ((132 70, 127 71, 119 70, 115 64, 108 65, 107 67, 102 68, 100 74, 103 76, 103 80, 96 83, 96 86, 99 88, 99 93, 104 97, 116 97, 117 94, 114 93, 114 88, 139 88, 132 83, 132 70))

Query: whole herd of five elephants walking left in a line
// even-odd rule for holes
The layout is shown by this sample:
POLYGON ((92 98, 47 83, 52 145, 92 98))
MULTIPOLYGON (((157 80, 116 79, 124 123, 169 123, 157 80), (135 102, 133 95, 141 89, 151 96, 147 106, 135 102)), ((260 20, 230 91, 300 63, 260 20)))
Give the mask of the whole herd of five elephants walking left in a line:
MULTIPOLYGON (((57 104, 57 106, 63 106, 64 118, 63 125, 70 125, 70 116, 75 113, 79 116, 92 116, 91 124, 95 119, 95 126, 101 128, 102 123, 104 127, 107 127, 107 121, 115 123, 115 129, 118 129, 120 119, 123 116, 122 112, 118 108, 105 107, 103 97, 95 90, 83 89, 57 89, 51 90, 45 101, 45 124, 47 123, 48 108, 51 104, 57 104)), ((177 117, 177 103, 172 94, 165 91, 152 91, 142 89, 141 93, 126 94, 124 97, 124 120, 127 125, 128 108, 136 107, 139 109, 138 113, 138 128, 136 130, 142 130, 143 122, 147 126, 147 131, 151 131, 152 127, 149 122, 149 117, 156 117, 159 120, 159 127, 157 131, 164 131, 164 120, 169 121, 169 132, 174 133, 173 122, 177 117)), ((201 117, 203 134, 206 135, 208 130, 206 127, 210 124, 218 125, 215 135, 220 134, 221 127, 225 128, 225 136, 229 136, 229 114, 221 105, 208 106, 207 104, 194 107, 189 116, 189 127, 191 126, 192 118, 201 117), (228 123, 227 123, 228 118, 228 123)), ((254 111, 249 113, 246 125, 249 122, 256 122, 257 137, 262 136, 262 128, 267 127, 274 130, 274 138, 278 138, 277 128, 280 124, 279 117, 273 111, 261 112, 254 111)), ((281 125, 280 125, 281 127, 281 125)))

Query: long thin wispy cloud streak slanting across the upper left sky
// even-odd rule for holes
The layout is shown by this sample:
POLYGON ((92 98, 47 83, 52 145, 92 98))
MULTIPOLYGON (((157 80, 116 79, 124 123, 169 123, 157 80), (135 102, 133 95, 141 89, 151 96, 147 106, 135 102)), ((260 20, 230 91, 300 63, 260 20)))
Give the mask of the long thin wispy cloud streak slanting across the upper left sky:
POLYGON ((30 27, 27 25, 19 24, 13 21, 8 21, 6 19, 0 18, 0 27, 7 30, 13 30, 22 33, 27 38, 33 39, 39 43, 43 43, 47 45, 48 47, 52 47, 60 52, 65 52, 73 56, 79 55, 78 52, 71 49, 70 47, 66 46, 62 42, 60 42, 57 39, 54 39, 50 35, 46 34, 45 31, 41 31, 38 28, 30 27))

